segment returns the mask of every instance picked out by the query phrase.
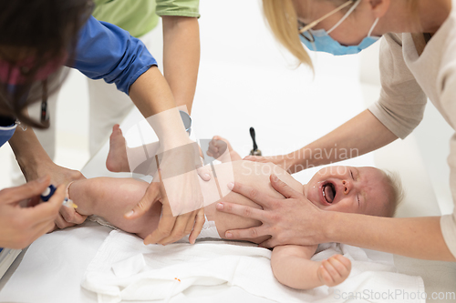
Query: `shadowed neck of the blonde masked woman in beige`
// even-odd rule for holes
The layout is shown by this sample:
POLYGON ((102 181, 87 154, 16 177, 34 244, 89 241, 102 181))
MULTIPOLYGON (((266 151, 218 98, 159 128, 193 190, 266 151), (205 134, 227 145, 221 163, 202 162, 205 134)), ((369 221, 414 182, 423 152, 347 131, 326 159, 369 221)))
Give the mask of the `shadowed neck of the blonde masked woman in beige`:
POLYGON ((436 33, 451 12, 451 0, 416 0, 419 8, 410 11, 406 1, 390 2, 388 12, 380 19, 378 31, 387 33, 436 33))

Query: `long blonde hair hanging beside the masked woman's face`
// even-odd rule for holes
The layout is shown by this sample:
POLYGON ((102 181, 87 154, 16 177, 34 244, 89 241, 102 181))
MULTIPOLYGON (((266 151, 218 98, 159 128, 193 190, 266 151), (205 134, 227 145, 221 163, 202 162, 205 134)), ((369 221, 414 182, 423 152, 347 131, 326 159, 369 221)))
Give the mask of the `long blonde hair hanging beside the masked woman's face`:
MULTIPOLYGON (((329 0, 335 1, 335 0, 329 0)), ((340 2, 341 0, 338 0, 340 2)), ((358 0, 361 1, 361 0, 358 0)), ((409 10, 418 20, 419 5, 418 0, 406 0, 409 10)), ((296 57, 300 64, 305 64, 313 68, 312 60, 307 54, 297 28, 297 15, 295 5, 292 0, 263 0, 264 16, 269 27, 273 31, 275 38, 285 46, 285 48, 296 57)))

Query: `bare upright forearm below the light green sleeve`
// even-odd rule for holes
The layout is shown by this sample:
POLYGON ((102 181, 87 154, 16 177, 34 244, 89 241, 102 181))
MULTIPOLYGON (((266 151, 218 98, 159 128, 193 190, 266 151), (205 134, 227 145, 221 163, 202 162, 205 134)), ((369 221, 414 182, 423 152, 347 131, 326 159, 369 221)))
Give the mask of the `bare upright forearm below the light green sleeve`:
POLYGON ((200 66, 200 29, 197 18, 162 16, 163 67, 177 106, 192 111, 200 66))

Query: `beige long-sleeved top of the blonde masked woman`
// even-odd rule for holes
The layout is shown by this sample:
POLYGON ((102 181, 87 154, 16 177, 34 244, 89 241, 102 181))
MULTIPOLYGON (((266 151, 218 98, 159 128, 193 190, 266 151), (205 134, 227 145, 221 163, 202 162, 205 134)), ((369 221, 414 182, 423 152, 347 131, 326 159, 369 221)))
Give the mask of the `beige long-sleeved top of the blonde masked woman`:
MULTIPOLYGON (((456 130, 456 0, 451 15, 419 55, 411 34, 389 34, 380 46, 381 94, 368 109, 389 130, 405 138, 420 124, 427 97, 456 130)), ((456 204, 456 135, 451 137, 448 164, 456 204)), ((456 207, 442 216, 440 228, 456 258, 456 207)))

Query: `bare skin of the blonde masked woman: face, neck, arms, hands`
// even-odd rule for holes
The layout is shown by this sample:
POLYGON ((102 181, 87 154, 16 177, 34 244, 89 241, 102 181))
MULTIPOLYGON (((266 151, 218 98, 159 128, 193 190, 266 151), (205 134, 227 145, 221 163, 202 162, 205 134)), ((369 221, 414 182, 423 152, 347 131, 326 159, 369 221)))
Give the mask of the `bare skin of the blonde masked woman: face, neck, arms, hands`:
MULTIPOLYGON (((310 14, 306 14, 306 1, 294 1, 298 18, 306 24, 335 8, 331 1, 309 0, 309 3, 313 10, 310 14)), ((451 0, 420 0, 418 3, 420 6, 417 24, 406 1, 361 0, 358 12, 355 11, 356 17, 349 16, 331 33, 331 36, 341 44, 358 45, 368 35, 368 30, 376 18, 379 18, 379 21, 372 35, 435 33, 451 11, 451 0)), ((340 12, 328 17, 316 25, 315 29, 325 28, 327 31, 340 20, 342 15, 343 13, 340 12)), ((415 44, 419 46, 417 42, 415 44)), ((319 166, 340 160, 334 157, 324 159, 309 157, 315 154, 316 148, 329 150, 337 144, 337 148, 358 148, 359 155, 363 155, 396 139, 397 136, 366 110, 343 126, 339 126, 294 153, 277 157, 246 157, 246 159, 273 162, 294 173, 307 166, 319 166)), ((236 239, 272 236, 261 244, 264 247, 341 242, 411 258, 456 261, 441 235, 440 217, 389 218, 326 212, 308 203, 306 197, 292 190, 284 182, 278 182, 275 188, 288 198, 288 203, 279 204, 277 199, 263 193, 252 196, 255 187, 236 183, 233 191, 245 197, 251 197, 263 207, 263 210, 224 201, 219 203, 217 209, 239 216, 248 215, 261 221, 263 225, 249 229, 229 230, 225 237, 236 239)))

